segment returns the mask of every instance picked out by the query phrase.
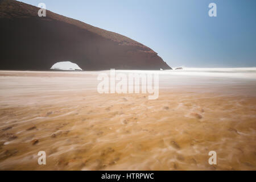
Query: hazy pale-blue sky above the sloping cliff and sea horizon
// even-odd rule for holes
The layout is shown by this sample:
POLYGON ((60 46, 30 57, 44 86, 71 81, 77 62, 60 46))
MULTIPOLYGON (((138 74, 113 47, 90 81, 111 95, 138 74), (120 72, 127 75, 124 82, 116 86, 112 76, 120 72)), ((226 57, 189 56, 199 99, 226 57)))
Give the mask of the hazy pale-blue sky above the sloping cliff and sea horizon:
POLYGON ((171 67, 256 67, 255 0, 22 0, 117 32, 171 67), (217 17, 209 17, 209 3, 217 17))

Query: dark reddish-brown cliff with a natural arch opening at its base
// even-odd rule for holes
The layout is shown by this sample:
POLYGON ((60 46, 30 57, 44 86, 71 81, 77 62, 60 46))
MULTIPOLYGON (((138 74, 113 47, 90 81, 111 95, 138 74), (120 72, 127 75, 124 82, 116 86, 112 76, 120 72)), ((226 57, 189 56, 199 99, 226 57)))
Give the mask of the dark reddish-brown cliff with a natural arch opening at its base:
POLYGON ((84 70, 171 69, 132 39, 38 7, 0 0, 0 69, 48 70, 72 61, 84 70))

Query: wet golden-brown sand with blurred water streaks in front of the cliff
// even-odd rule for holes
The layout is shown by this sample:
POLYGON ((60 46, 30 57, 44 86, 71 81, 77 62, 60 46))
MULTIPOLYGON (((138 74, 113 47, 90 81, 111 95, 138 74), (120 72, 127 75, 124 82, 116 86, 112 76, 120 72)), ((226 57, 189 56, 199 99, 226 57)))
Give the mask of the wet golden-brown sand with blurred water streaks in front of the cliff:
POLYGON ((160 72, 148 100, 97 74, 0 71, 0 169, 256 170, 255 79, 160 72))

